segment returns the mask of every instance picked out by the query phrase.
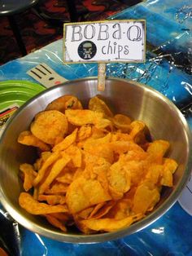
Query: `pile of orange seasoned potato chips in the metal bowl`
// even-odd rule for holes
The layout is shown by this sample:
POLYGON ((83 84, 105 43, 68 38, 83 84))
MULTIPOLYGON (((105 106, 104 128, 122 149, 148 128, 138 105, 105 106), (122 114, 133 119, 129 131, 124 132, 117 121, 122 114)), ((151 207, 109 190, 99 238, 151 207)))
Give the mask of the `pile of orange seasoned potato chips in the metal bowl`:
POLYGON ((165 157, 168 141, 147 138, 143 121, 114 115, 98 96, 86 109, 73 95, 55 99, 18 138, 39 154, 20 166, 20 206, 63 232, 72 225, 85 234, 129 227, 154 209, 177 169, 165 157))

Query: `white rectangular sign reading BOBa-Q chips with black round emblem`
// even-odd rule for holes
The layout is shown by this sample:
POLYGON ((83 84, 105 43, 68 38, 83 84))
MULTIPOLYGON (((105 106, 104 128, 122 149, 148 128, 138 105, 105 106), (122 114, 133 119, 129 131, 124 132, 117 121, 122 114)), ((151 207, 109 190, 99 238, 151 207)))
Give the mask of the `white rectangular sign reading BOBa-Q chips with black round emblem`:
POLYGON ((64 24, 63 62, 144 62, 145 20, 64 24))

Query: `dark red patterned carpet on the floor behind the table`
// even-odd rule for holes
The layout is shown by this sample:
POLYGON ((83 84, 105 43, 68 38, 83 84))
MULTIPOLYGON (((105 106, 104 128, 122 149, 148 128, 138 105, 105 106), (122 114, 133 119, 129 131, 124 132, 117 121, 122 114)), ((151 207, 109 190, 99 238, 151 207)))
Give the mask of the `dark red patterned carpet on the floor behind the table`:
MULTIPOLYGON (((68 10, 65 0, 46 0, 41 2, 41 11, 53 18, 68 20, 68 10)), ((124 9, 124 4, 117 0, 76 0, 76 11, 80 21, 104 20, 108 15, 124 9)), ((52 25, 41 20, 33 11, 25 11, 22 15, 15 15, 20 27, 20 33, 28 53, 35 51, 50 42, 63 38, 62 26, 52 25)), ((0 18, 0 65, 9 60, 21 57, 20 49, 9 28, 7 17, 0 18)))

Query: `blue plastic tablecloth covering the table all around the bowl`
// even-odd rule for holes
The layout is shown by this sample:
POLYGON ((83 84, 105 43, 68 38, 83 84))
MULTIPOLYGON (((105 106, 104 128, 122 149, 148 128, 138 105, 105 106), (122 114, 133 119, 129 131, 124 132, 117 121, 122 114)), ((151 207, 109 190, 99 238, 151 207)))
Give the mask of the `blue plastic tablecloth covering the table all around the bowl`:
MULTIPOLYGON (((148 0, 110 17, 146 20, 146 63, 107 64, 107 77, 142 82, 159 90, 184 114, 192 129, 192 5, 184 0, 148 0)), ((98 75, 97 64, 63 64, 59 40, 0 67, 0 81, 28 80, 45 62, 68 80, 98 75)), ((29 232, 0 207, 1 245, 11 255, 192 255, 192 217, 177 202, 159 220, 133 235, 100 244, 74 245, 29 232), (7 234, 7 230, 9 231, 7 234)))

